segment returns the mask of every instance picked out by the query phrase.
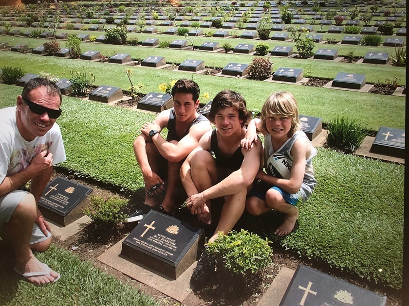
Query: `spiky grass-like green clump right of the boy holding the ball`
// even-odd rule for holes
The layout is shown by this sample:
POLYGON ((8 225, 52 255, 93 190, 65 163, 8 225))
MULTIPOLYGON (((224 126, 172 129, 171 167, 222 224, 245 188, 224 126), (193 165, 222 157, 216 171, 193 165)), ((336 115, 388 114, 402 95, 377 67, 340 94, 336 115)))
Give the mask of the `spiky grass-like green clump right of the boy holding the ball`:
POLYGON ((355 152, 364 138, 369 135, 366 126, 356 122, 355 119, 349 120, 338 116, 328 123, 327 131, 326 145, 344 153, 355 152))

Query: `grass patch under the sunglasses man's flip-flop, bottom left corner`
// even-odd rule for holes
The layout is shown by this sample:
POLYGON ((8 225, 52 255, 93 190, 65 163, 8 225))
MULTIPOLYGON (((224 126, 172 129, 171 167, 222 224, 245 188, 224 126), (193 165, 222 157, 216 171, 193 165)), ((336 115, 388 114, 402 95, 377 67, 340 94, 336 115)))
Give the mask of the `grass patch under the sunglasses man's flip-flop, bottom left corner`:
POLYGON ((55 245, 36 256, 61 278, 55 284, 37 287, 2 262, 1 305, 159 305, 152 297, 93 267, 91 261, 83 261, 55 245))

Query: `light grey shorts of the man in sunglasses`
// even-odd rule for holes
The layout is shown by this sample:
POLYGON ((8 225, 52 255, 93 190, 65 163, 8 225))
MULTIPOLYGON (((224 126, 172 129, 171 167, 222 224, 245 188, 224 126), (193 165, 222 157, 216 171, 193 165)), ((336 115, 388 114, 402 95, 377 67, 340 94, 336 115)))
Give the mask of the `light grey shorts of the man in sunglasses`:
MULTIPOLYGON (((0 233, 3 234, 4 223, 10 221, 11 216, 16 210, 17 205, 29 192, 23 190, 15 190, 6 195, 0 197, 0 233)), ((41 231, 37 222, 34 222, 33 232, 31 234, 30 244, 44 241, 51 237, 51 233, 48 232, 45 236, 41 231)), ((3 235, 2 235, 3 236, 3 235)))

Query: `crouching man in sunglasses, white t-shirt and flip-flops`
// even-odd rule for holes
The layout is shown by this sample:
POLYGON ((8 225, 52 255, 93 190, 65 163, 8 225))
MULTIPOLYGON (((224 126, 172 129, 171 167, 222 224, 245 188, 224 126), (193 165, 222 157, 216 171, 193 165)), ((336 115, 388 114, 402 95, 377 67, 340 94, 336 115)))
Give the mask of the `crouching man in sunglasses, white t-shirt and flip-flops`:
POLYGON ((14 250, 15 271, 36 285, 60 277, 32 252, 51 244, 50 227, 37 204, 53 166, 66 159, 56 124, 60 105, 58 87, 35 78, 17 97, 17 107, 0 109, 0 233, 14 250), (22 190, 29 180, 30 192, 22 190))

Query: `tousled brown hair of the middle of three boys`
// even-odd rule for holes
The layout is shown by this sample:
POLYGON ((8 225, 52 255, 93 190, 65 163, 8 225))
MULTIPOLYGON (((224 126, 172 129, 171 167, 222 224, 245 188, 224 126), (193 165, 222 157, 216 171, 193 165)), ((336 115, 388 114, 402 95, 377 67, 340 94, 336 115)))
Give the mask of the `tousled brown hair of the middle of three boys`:
POLYGON ((210 122, 215 123, 214 119, 216 114, 220 110, 227 107, 236 107, 237 111, 239 112, 239 118, 243 120, 242 126, 246 125, 250 121, 251 114, 247 110, 246 101, 241 94, 229 89, 222 90, 216 95, 216 97, 214 97, 207 118, 210 120, 210 122))

